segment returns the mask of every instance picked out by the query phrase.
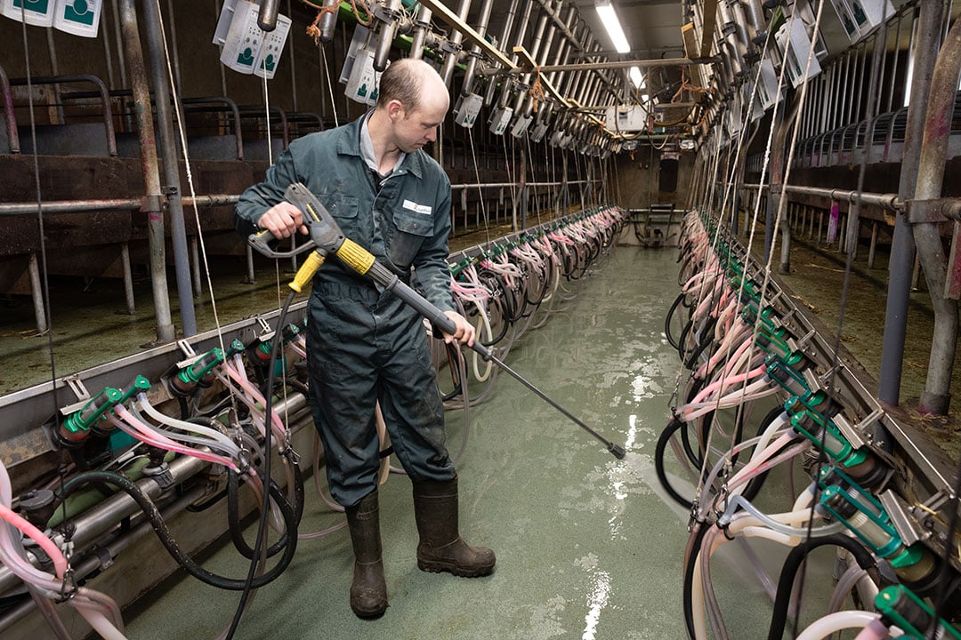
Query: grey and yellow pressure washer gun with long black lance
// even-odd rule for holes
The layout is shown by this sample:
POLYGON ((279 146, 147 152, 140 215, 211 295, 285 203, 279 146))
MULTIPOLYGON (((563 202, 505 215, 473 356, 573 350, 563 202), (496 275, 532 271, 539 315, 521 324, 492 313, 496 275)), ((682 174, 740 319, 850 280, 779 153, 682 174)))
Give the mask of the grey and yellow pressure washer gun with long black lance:
MULTIPOLYGON (((430 320, 434 326, 438 327, 444 333, 448 335, 453 335, 456 333, 456 325, 454 320, 448 318, 443 311, 431 304, 426 297, 421 296, 416 291, 411 289, 407 283, 401 280, 396 273, 393 273, 384 267, 380 262, 377 261, 377 258, 370 251, 364 249, 350 238, 344 236, 336 221, 333 220, 331 213, 319 200, 317 200, 317 197, 314 196, 306 186, 300 182, 294 182, 287 187, 283 197, 287 201, 290 201, 294 206, 299 208, 304 214, 304 224, 308 227, 310 241, 316 249, 310 254, 310 258, 314 258, 315 255, 318 256, 312 261, 309 258, 308 261, 305 261, 304 266, 298 270, 297 275, 294 277, 294 281, 290 283, 291 289, 300 292, 301 289, 295 288, 295 284, 297 287, 303 287, 307 282, 310 281, 310 279, 313 277, 313 274, 317 272, 317 269, 324 264, 327 256, 335 255, 337 259, 345 266, 381 285, 384 291, 388 291, 394 296, 401 298, 401 300, 412 307, 414 311, 430 320)), ((273 234, 270 233, 270 231, 260 231, 259 233, 251 235, 248 242, 254 249, 264 252, 260 249, 260 246, 262 245, 269 250, 267 243, 272 238, 273 234)), ((266 255, 270 255, 270 253, 264 253, 266 255)), ((530 391, 533 391, 545 402, 553 406, 554 409, 559 411, 561 414, 566 415, 568 418, 574 421, 575 424, 587 431, 596 439, 604 442, 604 445, 607 447, 607 451, 609 451, 614 457, 618 459, 624 458, 624 447, 605 439, 603 436, 601 436, 601 434, 597 433, 580 421, 579 418, 558 405, 556 402, 554 402, 554 400, 534 387, 519 373, 514 371, 512 368, 507 367, 504 362, 497 358, 486 346, 480 344, 479 342, 475 342, 470 348, 474 349, 485 361, 492 361, 497 364, 498 367, 503 368, 518 382, 530 389, 530 391)))

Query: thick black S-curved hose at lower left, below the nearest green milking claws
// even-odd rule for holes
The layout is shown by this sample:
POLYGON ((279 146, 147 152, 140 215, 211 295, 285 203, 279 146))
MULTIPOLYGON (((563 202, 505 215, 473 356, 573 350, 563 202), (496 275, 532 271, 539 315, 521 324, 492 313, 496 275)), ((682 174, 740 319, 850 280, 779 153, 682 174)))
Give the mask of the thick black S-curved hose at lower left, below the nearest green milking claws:
MULTIPOLYGON (((163 545, 171 557, 177 560, 178 564, 184 567, 188 574, 199 581, 209 584, 210 586, 215 586, 220 589, 227 589, 229 591, 242 591, 245 587, 247 587, 247 581, 225 578, 223 576, 210 573, 208 570, 194 562, 191 557, 187 556, 185 551, 181 549, 179 544, 177 544, 177 540, 175 540, 170 534, 170 530, 167 529, 166 523, 163 522, 163 516, 160 515, 160 510, 157 509, 157 505, 154 504, 154 501, 151 500, 150 497, 147 496, 142 490, 140 490, 140 487, 136 486, 134 482, 118 473, 113 473, 111 471, 86 471, 84 473, 80 473, 63 484, 60 491, 60 497, 61 499, 65 500, 81 487, 95 483, 104 483, 107 485, 116 486, 133 498, 140 510, 142 510, 144 515, 147 516, 147 520, 150 521, 151 527, 154 528, 154 533, 157 533, 157 537, 160 538, 160 544, 163 545)), ((270 483, 270 485, 273 485, 273 483, 270 483)), ((283 496, 283 491, 278 491, 276 500, 278 506, 281 508, 281 513, 283 514, 283 523, 287 531, 296 532, 297 526, 295 524, 294 510, 290 506, 290 503, 288 503, 286 498, 283 496)), ((283 570, 287 568, 287 565, 289 565, 290 561, 294 558, 294 552, 296 549, 297 536, 291 535, 289 544, 284 546, 283 557, 281 557, 278 563, 270 571, 255 578, 251 582, 250 586, 252 588, 259 588, 264 584, 268 584, 277 580, 277 578, 283 573, 283 570)))

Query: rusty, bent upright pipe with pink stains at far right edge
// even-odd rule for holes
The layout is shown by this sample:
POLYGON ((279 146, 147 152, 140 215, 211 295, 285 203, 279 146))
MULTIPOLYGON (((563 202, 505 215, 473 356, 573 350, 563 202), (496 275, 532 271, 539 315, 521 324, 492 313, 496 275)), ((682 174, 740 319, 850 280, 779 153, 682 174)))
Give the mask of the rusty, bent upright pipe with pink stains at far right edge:
MULTIPOLYGON (((921 163, 914 192, 916 201, 941 198, 948 162, 948 140, 954 111, 954 96, 961 76, 961 20, 956 20, 934 63, 931 92, 927 99, 927 118, 921 143, 921 163)), ((956 236, 957 234, 955 234, 956 236)), ((914 242, 924 267, 924 280, 934 307, 934 333, 927 380, 919 409, 924 414, 948 415, 951 370, 958 340, 958 301, 946 296, 948 260, 941 244, 937 223, 914 224, 914 242)), ((952 250, 957 247, 952 243, 952 250)))

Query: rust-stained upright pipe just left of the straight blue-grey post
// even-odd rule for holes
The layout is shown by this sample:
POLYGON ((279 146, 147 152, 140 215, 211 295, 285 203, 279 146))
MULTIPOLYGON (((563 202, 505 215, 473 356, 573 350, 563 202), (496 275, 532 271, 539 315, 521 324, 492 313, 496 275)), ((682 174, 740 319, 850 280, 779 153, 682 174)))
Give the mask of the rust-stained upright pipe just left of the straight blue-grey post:
MULTIPOLYGON (((127 62, 131 67, 131 81, 136 103, 136 124, 140 139, 140 166, 143 171, 144 201, 141 210, 147 214, 147 240, 150 245, 150 273, 157 315, 157 340, 172 342, 176 336, 170 319, 170 298, 167 290, 167 265, 164 249, 162 190, 157 143, 154 140, 154 112, 150 106, 150 85, 140 48, 140 34, 136 23, 134 0, 120 0, 120 21, 127 62)), ((160 101, 158 101, 160 102, 160 101)))

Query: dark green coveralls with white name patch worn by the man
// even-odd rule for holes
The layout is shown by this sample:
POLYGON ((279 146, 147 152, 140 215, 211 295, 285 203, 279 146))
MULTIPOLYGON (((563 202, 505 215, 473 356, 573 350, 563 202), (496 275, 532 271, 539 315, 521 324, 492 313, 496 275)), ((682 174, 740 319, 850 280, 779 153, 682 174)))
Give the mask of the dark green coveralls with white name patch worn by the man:
MULTIPOLYGON (((447 236, 451 183, 428 154, 407 154, 381 182, 360 151, 364 118, 290 143, 263 182, 236 205, 237 231, 257 231, 260 216, 303 182, 333 214, 344 235, 402 279, 410 269, 424 295, 453 310, 447 236)), ((406 304, 330 259, 313 279, 308 301, 310 407, 324 444, 334 500, 356 505, 377 486, 374 405, 414 482, 455 477, 444 446, 444 412, 421 317, 406 304)))

